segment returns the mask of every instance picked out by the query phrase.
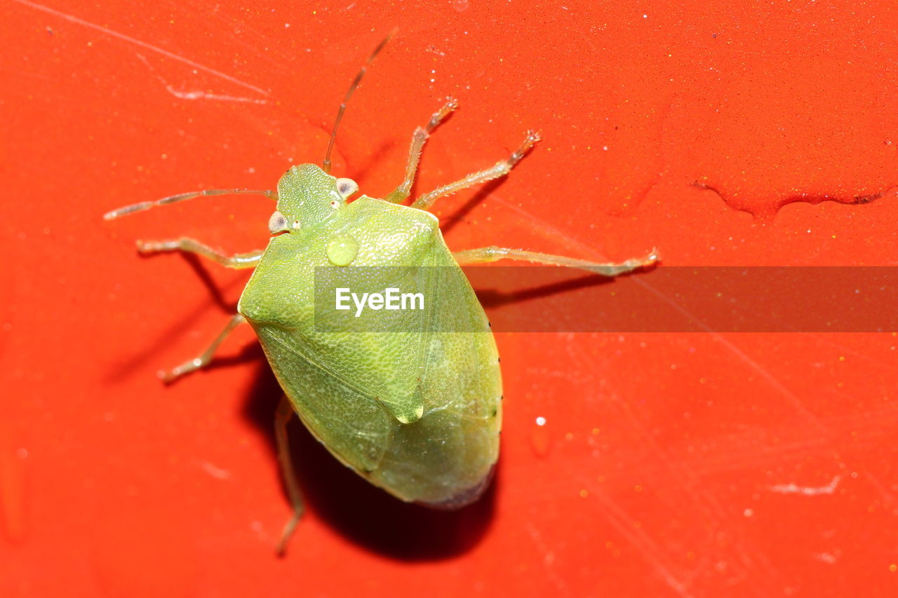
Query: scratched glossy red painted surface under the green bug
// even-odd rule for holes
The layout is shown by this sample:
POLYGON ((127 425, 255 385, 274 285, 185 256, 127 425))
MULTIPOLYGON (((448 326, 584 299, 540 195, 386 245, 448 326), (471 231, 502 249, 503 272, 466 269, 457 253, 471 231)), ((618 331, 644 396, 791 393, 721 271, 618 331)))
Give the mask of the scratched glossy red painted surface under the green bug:
POLYGON ((447 94, 418 189, 544 137, 489 194, 441 201, 454 248, 894 264, 894 8, 737 4, 5 3, 0 594, 894 595, 893 334, 501 335, 495 491, 403 506, 296 427, 309 512, 279 560, 278 392, 251 334, 154 378, 245 275, 133 245, 259 247, 270 205, 100 217, 319 162, 398 26, 335 173, 392 189, 447 94))

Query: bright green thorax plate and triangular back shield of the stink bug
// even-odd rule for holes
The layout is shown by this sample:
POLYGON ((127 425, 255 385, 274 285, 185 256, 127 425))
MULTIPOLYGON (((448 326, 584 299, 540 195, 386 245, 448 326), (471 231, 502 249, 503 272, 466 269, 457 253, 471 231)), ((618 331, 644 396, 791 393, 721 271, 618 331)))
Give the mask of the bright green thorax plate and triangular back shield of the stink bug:
POLYGON ((243 292, 240 312, 263 346, 269 345, 276 371, 278 360, 301 358, 395 420, 417 421, 424 412, 420 379, 434 312, 427 297, 424 310, 366 309, 356 317, 355 306, 335 310, 334 289, 362 294, 392 287, 427 295, 432 268, 421 267, 437 254, 442 264, 448 254, 439 223, 421 210, 365 197, 335 216, 306 235, 272 238, 243 292), (330 242, 338 237, 357 242, 349 266, 334 266, 328 258, 330 242), (348 279, 329 286, 321 280, 328 272, 348 279), (277 341, 267 340, 266 330, 277 341))

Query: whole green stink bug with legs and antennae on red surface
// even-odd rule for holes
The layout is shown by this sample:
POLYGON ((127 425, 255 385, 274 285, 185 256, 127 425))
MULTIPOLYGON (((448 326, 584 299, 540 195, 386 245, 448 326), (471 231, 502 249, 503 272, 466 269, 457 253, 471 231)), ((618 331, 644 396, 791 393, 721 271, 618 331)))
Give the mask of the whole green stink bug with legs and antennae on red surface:
POLYGON ((255 268, 225 330, 200 356, 161 377, 171 381, 207 365, 225 337, 242 323, 249 322, 256 332, 285 392, 275 433, 294 515, 285 526, 279 553, 303 512, 286 437, 286 423, 294 412, 340 462, 401 500, 456 509, 477 500, 488 487, 498 457, 502 382, 489 322, 460 265, 520 259, 613 277, 656 261, 654 253, 620 264, 598 264, 497 246, 450 251, 428 208, 437 198, 505 176, 539 141, 529 132, 506 160, 404 206, 427 137, 457 107, 452 98, 425 127, 415 130, 401 184, 384 199, 363 195, 349 202, 358 185, 330 175, 330 153, 349 98, 388 40, 374 49, 350 85, 321 167, 291 167, 278 180, 277 191, 208 189, 121 207, 104 216, 110 220, 222 194, 260 194, 277 202, 264 250, 226 255, 189 238, 138 241, 137 246, 141 252, 185 251, 228 268, 255 268), (435 317, 468 322, 470 330, 417 335, 398 330, 317 330, 315 268, 349 266, 452 268, 461 276, 453 277, 451 287, 441 288, 445 296, 440 304, 446 307, 435 317))

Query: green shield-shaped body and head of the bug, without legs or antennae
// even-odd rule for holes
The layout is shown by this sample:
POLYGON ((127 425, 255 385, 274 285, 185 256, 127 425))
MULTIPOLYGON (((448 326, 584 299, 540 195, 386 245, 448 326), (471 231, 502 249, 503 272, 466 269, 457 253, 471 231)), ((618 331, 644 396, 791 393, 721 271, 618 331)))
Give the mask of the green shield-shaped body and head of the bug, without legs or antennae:
POLYGON ((502 384, 486 315, 434 215, 366 196, 344 204, 336 181, 312 164, 280 180, 277 213, 299 226, 271 238, 238 311, 330 453, 403 500, 462 506, 498 455, 502 384), (439 290, 438 317, 474 331, 316 330, 315 268, 334 267, 333 243, 346 240, 355 256, 339 254, 340 267, 457 269, 462 284, 439 290))

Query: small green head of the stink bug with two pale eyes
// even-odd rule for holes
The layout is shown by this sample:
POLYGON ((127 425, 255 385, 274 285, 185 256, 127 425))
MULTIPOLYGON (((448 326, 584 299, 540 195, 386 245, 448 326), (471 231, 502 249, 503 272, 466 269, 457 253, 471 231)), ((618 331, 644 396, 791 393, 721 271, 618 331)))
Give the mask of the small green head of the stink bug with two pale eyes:
POLYGON ((358 190, 352 179, 337 179, 314 164, 300 164, 277 181, 277 210, 271 234, 299 231, 327 220, 358 190))

